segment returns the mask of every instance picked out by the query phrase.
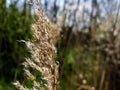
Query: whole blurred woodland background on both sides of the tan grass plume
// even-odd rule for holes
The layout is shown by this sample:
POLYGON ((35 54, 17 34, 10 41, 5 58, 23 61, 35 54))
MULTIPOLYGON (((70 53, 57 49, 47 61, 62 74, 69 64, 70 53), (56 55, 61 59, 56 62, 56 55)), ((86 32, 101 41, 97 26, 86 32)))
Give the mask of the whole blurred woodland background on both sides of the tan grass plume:
MULTIPOLYGON (((19 11, 16 3, 7 8, 5 1, 0 0, 0 90, 7 90, 6 82, 13 90, 10 82, 21 78, 21 62, 28 56, 19 40, 31 39, 32 21, 26 8, 19 11)), ((62 6, 58 0, 41 0, 41 4, 62 29, 56 45, 57 89, 120 90, 119 0, 63 0, 62 6)))

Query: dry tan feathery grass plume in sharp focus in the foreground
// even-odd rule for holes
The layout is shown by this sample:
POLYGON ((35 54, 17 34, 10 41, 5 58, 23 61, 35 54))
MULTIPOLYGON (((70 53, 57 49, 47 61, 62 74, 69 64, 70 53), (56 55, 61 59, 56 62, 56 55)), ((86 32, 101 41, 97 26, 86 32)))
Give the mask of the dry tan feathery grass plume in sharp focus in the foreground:
POLYGON ((32 53, 32 59, 27 58, 24 62, 24 71, 28 79, 33 82, 33 87, 28 89, 18 81, 14 85, 19 90, 45 90, 36 81, 37 77, 30 72, 29 68, 32 68, 42 74, 43 79, 47 81, 46 87, 48 90, 56 90, 56 85, 58 84, 58 65, 55 62, 55 43, 60 30, 48 20, 43 10, 39 7, 39 0, 36 0, 36 5, 38 20, 35 20, 32 27, 35 40, 33 42, 26 42, 32 53))

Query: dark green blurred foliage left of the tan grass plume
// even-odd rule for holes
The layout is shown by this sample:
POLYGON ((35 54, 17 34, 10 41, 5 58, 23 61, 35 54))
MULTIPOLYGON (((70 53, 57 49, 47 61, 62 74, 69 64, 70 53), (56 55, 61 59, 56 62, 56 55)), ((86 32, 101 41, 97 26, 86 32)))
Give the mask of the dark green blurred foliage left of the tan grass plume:
POLYGON ((13 90, 11 82, 23 80, 21 64, 29 56, 20 40, 32 39, 32 19, 26 5, 21 10, 17 8, 18 1, 7 7, 6 0, 0 0, 0 90, 13 90))

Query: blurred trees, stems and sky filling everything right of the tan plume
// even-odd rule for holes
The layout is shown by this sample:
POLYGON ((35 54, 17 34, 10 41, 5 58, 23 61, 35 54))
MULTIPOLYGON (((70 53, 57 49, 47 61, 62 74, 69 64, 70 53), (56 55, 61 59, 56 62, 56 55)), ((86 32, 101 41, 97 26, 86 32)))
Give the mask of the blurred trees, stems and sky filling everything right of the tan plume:
POLYGON ((58 90, 119 90, 120 2, 58 2, 41 2, 51 21, 62 28, 58 90))

